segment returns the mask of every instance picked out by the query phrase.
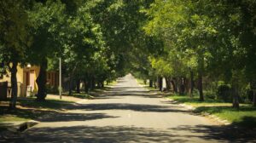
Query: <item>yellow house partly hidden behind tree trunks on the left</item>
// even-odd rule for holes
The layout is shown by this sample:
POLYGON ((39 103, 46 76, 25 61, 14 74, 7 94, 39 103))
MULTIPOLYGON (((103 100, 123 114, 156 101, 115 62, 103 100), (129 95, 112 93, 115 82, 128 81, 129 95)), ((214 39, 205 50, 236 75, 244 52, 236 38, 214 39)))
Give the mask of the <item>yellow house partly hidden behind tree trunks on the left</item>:
MULTIPOLYGON (((18 96, 25 97, 31 93, 36 93, 38 91, 38 85, 36 79, 39 75, 40 67, 39 66, 26 66, 17 67, 17 82, 18 82, 18 96)), ((59 77, 57 72, 47 72, 47 84, 49 86, 58 86, 59 77)), ((10 95, 10 73, 6 76, 3 76, 0 79, 1 82, 8 82, 9 86, 9 95, 10 95)))

